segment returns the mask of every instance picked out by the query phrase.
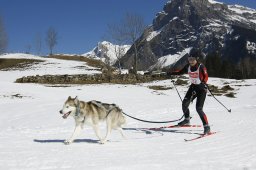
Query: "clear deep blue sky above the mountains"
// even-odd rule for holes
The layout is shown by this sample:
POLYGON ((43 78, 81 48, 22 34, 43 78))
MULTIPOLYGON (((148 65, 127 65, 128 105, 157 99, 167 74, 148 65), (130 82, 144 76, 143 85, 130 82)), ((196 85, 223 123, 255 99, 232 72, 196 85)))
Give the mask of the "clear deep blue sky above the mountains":
MULTIPOLYGON (((8 35, 8 52, 36 53, 41 37, 42 53, 46 32, 58 33, 54 53, 83 54, 106 40, 107 25, 120 23, 125 13, 143 17, 150 25, 168 0, 0 0, 0 16, 8 35)), ((256 9, 255 0, 221 0, 256 9)))

